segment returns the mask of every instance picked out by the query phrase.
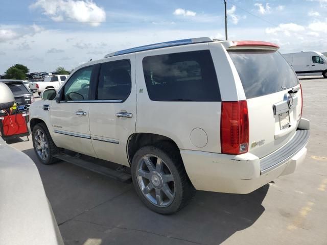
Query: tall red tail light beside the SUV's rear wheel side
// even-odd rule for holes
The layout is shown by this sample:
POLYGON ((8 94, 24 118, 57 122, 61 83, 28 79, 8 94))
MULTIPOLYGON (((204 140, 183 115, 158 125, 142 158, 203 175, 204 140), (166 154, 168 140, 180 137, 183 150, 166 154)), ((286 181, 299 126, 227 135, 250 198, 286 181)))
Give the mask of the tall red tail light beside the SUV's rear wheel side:
POLYGON ((238 155, 248 151, 249 115, 246 101, 222 102, 220 143, 223 154, 238 155))

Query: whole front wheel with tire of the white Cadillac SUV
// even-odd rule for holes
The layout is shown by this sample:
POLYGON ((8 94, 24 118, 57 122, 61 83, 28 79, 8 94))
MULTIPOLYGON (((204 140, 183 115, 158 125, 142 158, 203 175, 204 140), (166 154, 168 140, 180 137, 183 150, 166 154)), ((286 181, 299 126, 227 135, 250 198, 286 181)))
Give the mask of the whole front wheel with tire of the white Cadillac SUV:
POLYGON ((58 148, 53 142, 49 130, 44 123, 37 124, 33 128, 32 141, 36 156, 41 163, 48 165, 58 161, 54 157, 58 148))

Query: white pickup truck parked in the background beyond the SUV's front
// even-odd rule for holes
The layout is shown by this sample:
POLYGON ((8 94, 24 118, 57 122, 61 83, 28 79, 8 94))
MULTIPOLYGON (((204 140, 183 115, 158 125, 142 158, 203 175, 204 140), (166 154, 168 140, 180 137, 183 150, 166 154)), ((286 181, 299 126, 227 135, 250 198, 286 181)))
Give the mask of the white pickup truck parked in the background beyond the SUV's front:
POLYGON ((59 89, 63 82, 69 75, 51 75, 46 76, 44 81, 32 82, 30 84, 30 90, 33 92, 37 92, 41 95, 41 92, 47 88, 55 88, 59 89))

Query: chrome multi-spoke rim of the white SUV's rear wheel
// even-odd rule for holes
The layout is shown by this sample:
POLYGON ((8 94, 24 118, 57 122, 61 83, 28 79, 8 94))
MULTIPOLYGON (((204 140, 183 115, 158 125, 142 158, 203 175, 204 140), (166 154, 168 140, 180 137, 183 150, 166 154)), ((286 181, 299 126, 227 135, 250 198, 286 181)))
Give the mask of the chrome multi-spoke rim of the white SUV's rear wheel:
POLYGON ((174 201, 174 177, 161 158, 155 155, 143 156, 137 164, 136 174, 138 186, 152 204, 166 207, 174 201))

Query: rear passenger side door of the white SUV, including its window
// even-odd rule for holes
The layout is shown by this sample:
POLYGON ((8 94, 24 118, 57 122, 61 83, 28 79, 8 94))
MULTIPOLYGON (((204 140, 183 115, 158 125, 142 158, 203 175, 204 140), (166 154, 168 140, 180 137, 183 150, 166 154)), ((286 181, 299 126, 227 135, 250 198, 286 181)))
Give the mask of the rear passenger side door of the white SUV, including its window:
POLYGON ((96 100, 89 105, 90 134, 99 158, 128 165, 127 141, 136 124, 135 55, 118 58, 99 64, 96 100))

